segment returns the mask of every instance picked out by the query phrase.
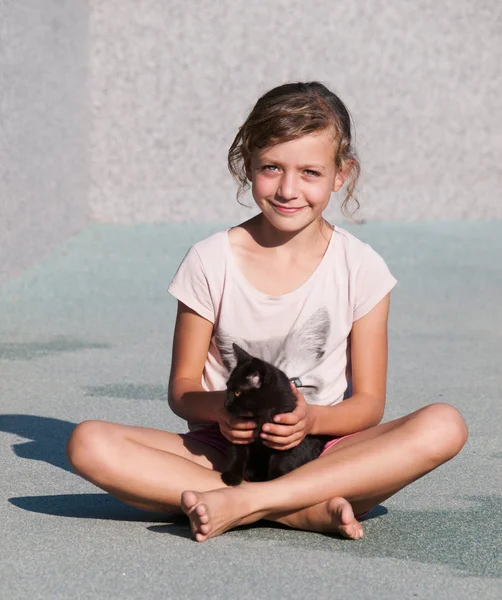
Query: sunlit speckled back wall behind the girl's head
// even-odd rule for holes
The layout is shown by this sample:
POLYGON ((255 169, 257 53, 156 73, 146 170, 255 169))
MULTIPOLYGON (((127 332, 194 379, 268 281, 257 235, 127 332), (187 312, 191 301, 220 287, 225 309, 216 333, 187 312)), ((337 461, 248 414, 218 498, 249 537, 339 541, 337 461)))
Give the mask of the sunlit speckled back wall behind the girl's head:
POLYGON ((259 94, 306 79, 353 115, 360 216, 502 218, 499 0, 91 6, 94 219, 249 214, 227 148, 259 94))

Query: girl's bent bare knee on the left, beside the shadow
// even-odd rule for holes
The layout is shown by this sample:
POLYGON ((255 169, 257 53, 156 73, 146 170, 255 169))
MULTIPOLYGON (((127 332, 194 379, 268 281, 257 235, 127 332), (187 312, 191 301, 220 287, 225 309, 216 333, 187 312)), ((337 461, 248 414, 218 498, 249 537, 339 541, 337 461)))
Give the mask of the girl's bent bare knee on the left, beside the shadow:
POLYGON ((85 474, 106 456, 110 440, 110 423, 84 421, 75 427, 66 444, 66 455, 75 471, 85 474))

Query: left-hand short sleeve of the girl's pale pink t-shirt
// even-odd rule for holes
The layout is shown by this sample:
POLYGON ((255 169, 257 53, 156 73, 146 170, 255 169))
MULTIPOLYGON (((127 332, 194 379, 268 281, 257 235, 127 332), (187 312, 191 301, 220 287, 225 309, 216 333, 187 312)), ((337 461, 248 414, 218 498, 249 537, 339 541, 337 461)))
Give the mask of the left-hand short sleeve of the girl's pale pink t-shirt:
POLYGON ((192 246, 182 260, 167 291, 196 313, 215 322, 215 309, 211 298, 209 281, 199 253, 192 246))

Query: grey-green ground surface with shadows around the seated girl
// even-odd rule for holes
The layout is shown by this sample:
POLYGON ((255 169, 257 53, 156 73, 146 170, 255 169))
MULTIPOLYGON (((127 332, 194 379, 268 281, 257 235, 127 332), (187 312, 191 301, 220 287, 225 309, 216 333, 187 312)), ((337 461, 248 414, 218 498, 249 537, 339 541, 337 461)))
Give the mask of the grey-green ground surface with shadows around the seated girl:
POLYGON ((90 226, 0 287, 0 596, 502 597, 502 222, 347 227, 399 280, 385 419, 448 402, 470 430, 458 457, 370 515, 363 540, 260 523, 196 544, 183 519, 70 471, 80 421, 184 430, 166 402, 166 288, 222 227, 90 226))

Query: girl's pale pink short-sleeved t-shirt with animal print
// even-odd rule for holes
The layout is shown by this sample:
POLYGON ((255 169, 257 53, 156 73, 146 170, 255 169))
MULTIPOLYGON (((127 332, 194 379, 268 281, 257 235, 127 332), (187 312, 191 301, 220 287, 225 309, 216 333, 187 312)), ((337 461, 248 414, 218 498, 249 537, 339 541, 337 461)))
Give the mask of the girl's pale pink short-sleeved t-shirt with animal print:
POLYGON ((190 248, 169 292, 214 324, 202 386, 224 390, 235 366, 232 343, 299 379, 307 402, 341 402, 350 376, 352 323, 394 287, 379 254, 335 227, 311 277, 282 296, 251 285, 240 271, 228 230, 190 248))

